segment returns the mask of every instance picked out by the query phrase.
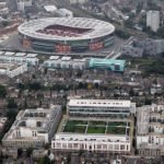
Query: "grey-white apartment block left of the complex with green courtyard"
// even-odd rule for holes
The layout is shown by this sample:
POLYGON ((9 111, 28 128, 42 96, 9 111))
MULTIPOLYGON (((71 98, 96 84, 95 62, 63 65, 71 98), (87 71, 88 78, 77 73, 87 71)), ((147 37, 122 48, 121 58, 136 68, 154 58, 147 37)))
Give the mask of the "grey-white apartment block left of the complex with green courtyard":
POLYGON ((48 143, 58 127, 62 112, 60 106, 50 109, 20 110, 11 129, 4 134, 4 148, 42 148, 48 143))

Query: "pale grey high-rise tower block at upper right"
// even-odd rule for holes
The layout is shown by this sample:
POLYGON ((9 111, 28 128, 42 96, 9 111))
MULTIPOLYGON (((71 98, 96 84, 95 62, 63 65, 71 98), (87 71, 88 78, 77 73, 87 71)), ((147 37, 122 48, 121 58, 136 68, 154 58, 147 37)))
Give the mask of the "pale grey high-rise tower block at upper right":
POLYGON ((157 32, 160 27, 160 12, 159 11, 147 12, 147 26, 150 26, 153 32, 157 32))

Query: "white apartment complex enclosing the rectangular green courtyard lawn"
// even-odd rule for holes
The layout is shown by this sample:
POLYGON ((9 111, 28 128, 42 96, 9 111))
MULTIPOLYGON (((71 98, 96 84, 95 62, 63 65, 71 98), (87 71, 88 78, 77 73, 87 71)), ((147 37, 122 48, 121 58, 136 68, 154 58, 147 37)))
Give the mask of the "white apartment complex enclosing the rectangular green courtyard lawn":
POLYGON ((51 140, 54 151, 130 154, 136 104, 115 99, 70 99, 51 140), (75 116, 75 117, 73 117, 75 116))

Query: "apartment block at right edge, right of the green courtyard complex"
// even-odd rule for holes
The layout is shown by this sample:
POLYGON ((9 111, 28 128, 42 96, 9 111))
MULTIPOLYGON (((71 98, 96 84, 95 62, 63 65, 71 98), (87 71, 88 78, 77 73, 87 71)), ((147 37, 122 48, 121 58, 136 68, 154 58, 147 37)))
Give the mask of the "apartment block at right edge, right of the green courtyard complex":
POLYGON ((143 156, 164 155, 164 105, 138 108, 137 149, 143 156))

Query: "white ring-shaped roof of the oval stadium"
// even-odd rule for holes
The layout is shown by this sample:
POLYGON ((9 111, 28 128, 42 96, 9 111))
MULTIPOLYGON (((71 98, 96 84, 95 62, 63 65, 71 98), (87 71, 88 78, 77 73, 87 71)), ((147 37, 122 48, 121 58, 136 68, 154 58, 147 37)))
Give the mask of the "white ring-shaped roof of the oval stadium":
POLYGON ((85 17, 46 17, 37 19, 23 23, 19 26, 19 32, 25 36, 45 39, 45 40, 79 40, 79 39, 92 39, 114 33, 115 26, 108 22, 85 19, 85 17), (91 31, 78 36, 59 36, 51 34, 38 33, 37 31, 44 30, 49 25, 63 25, 70 27, 86 28, 91 31))

